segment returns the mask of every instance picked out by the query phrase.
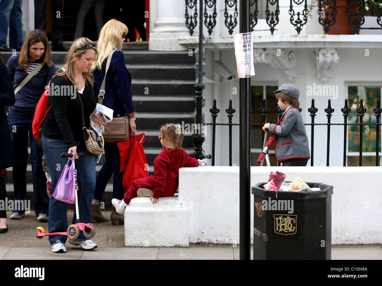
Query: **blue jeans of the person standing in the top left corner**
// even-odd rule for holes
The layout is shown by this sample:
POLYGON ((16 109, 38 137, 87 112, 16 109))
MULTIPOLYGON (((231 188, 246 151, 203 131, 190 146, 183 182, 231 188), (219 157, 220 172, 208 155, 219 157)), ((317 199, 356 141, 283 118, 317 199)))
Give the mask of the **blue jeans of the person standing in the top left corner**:
POLYGON ((21 5, 23 0, 0 1, 0 47, 6 46, 8 26, 10 48, 21 48, 23 45, 21 5))

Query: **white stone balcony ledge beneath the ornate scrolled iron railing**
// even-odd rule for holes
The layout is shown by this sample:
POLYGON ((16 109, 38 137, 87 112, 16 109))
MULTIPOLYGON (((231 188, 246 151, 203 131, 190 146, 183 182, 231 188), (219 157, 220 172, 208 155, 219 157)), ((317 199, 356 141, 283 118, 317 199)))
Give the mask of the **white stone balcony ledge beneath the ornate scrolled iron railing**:
MULTIPOLYGON (((198 47, 199 37, 179 37, 185 48, 198 47)), ((204 48, 233 48, 233 36, 205 36, 204 48)), ((254 48, 381 48, 382 35, 254 35, 254 48)))

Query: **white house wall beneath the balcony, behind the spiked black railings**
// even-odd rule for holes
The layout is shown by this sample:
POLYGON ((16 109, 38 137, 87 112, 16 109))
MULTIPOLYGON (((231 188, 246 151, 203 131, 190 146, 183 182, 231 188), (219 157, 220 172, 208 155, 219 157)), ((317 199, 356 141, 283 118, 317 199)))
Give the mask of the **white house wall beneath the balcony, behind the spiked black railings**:
MULTIPOLYGON (((293 49, 297 57, 297 71, 298 76, 293 82, 300 90, 300 107, 303 109, 301 115, 303 116, 304 123, 311 123, 311 117, 308 108, 311 107, 311 100, 314 98, 315 106, 318 108, 316 113, 315 123, 327 123, 326 113, 324 109, 327 108, 328 99, 331 100, 331 106, 334 108, 332 113, 332 123, 343 123, 343 116, 341 108, 344 107, 344 100, 347 98, 346 84, 382 84, 382 57, 380 53, 382 48, 368 48, 369 56, 365 56, 365 49, 363 48, 337 48, 340 56, 340 61, 334 66, 334 77, 326 85, 338 85, 338 98, 324 96, 307 96, 306 88, 309 85, 321 83, 316 78, 316 63, 314 61, 314 51, 316 48, 295 48, 293 49)), ((216 50, 207 50, 206 52, 206 77, 212 78, 212 57, 216 50)), ((236 73, 236 61, 233 49, 220 50, 220 60, 236 73)), ((263 84, 281 84, 285 83, 283 77, 284 70, 273 68, 267 63, 256 63, 256 75, 251 77, 251 85, 263 84)), ((232 79, 230 81, 223 81, 219 84, 207 84, 206 89, 203 91, 206 97, 206 106, 203 112, 206 116, 206 122, 212 122, 211 113, 209 109, 212 108, 213 100, 217 100, 217 107, 220 109, 217 123, 228 123, 227 113, 225 109, 228 108, 228 102, 232 99, 233 108, 236 113, 233 117, 233 123, 239 123, 239 80, 232 79), (232 88, 236 87, 238 94, 232 94, 232 88), (215 89, 218 92, 215 92, 215 89)), ((276 106, 268 106, 268 108, 276 108, 276 106)), ((257 112, 257 111, 256 111, 257 112)), ((374 114, 374 113, 373 113, 374 114)), ((259 115, 260 116, 260 115, 259 115)), ((373 115, 374 116, 374 115, 373 115)), ((212 129, 211 129, 212 131, 212 129)), ((228 126, 217 127, 216 134, 216 155, 215 165, 228 166, 228 126)), ((343 126, 331 126, 330 130, 330 166, 343 165, 343 126)), ((239 164, 239 127, 233 126, 233 163, 239 164)), ((311 127, 306 126, 306 132, 309 139, 309 149, 311 144, 311 127)), ((367 136, 364 133, 364 136, 367 136)), ((212 132, 207 134, 206 142, 203 144, 204 150, 210 154, 212 152, 212 132), (209 145, 208 145, 209 144, 209 145)), ((261 140, 261 139, 260 139, 261 140)), ((326 144, 327 144, 327 127, 315 126, 314 128, 314 166, 326 166, 326 144)), ((274 145, 272 145, 274 149, 274 145)), ((310 161, 308 162, 310 165, 310 161)))

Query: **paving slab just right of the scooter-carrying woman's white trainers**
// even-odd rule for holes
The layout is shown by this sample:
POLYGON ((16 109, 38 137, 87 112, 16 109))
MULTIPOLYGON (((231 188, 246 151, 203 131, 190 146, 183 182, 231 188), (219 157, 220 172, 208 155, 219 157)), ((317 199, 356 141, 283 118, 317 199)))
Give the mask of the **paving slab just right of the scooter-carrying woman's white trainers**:
POLYGON ((81 260, 155 260, 159 247, 120 247, 97 248, 94 251, 84 251, 81 260))

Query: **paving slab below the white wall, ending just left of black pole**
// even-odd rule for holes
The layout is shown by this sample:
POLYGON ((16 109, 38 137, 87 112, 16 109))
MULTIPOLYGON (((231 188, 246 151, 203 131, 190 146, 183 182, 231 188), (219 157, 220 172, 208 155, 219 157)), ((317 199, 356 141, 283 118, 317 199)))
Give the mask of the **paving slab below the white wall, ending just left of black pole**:
POLYGON ((158 259, 232 260, 232 246, 160 247, 158 259))

